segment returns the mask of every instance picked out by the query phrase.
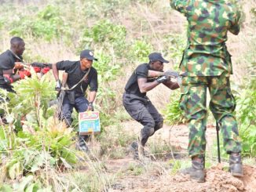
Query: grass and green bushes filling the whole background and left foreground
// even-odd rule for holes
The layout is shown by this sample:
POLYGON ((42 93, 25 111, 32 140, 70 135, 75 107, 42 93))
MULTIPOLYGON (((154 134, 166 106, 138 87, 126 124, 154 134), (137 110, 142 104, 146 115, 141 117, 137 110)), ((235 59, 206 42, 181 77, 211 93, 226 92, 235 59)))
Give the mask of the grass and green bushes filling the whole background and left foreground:
MULTIPOLYGON (((128 143, 137 137, 123 129, 122 122, 130 120, 122 106, 124 85, 131 71, 139 63, 148 62, 147 56, 153 51, 171 61, 165 69, 177 70, 186 43, 185 18, 163 0, 0 2, 1 52, 9 49, 13 36, 24 38, 27 63, 79 60, 82 49, 94 50, 99 60, 93 67, 97 68, 100 82, 96 108, 101 111, 103 129, 95 138, 93 154, 81 154, 75 150, 75 132, 53 118, 56 108, 47 104, 55 98, 53 75, 38 79, 33 74, 32 78, 17 82, 17 95, 9 94, 10 102, 2 103, 9 122, 0 128, 2 191, 108 190, 123 172, 109 176, 104 160, 125 157, 128 143), (88 169, 86 176, 76 172, 81 165, 88 169)), ((229 35, 228 42, 243 156, 251 159, 256 156, 255 4, 254 0, 240 1, 242 31, 238 36, 229 35)), ((159 85, 148 95, 163 111, 166 124, 185 122, 177 105, 179 91, 170 92, 159 85)), ((77 114, 74 118, 75 128, 77 114)), ((214 123, 212 117, 209 123, 214 123)), ((174 148, 154 142, 149 150, 161 154, 174 148)), ((181 166, 175 162, 172 172, 181 166)), ((131 164, 128 170, 140 175, 148 169, 131 164)), ((163 172, 162 167, 157 170, 163 172)))

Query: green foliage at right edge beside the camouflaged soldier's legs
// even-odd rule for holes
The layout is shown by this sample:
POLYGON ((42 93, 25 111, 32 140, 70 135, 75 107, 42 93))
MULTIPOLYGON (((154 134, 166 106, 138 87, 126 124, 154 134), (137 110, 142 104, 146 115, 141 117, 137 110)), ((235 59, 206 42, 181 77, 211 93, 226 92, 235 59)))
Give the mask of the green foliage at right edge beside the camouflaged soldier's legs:
POLYGON ((240 124, 240 137, 243 141, 243 154, 256 157, 256 44, 252 41, 250 45, 251 50, 246 56, 247 62, 250 63, 247 69, 249 75, 245 78, 245 89, 240 87, 243 91, 236 95, 236 112, 240 124))

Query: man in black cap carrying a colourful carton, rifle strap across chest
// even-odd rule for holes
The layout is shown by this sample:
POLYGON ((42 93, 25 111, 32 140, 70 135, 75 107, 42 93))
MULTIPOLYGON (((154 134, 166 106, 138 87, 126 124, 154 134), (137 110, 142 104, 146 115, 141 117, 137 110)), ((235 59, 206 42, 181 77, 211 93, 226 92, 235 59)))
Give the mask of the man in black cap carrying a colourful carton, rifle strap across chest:
MULTIPOLYGON (((59 70, 68 74, 67 85, 71 91, 67 91, 62 104, 62 118, 67 125, 71 125, 73 108, 80 112, 93 110, 93 101, 97 94, 97 71, 92 67, 93 60, 97 60, 90 50, 83 50, 79 61, 60 61, 53 64, 53 75, 57 81, 56 89, 60 90, 59 70), (86 77, 85 77, 86 75, 86 77), (82 80, 82 81, 81 81, 82 80), (88 100, 85 97, 86 89, 90 85, 88 100)), ((79 136, 79 147, 88 150, 85 139, 87 136, 79 136)))

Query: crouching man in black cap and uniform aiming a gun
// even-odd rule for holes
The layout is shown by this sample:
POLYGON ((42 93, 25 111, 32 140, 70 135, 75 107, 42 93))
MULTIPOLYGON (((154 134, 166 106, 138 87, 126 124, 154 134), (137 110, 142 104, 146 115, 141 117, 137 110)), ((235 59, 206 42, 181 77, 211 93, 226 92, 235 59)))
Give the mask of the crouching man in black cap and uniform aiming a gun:
MULTIPOLYGON (((125 93, 123 94, 123 106, 130 116, 144 125, 141 129, 141 152, 144 154, 144 146, 149 136, 152 136, 158 129, 163 127, 163 117, 152 105, 146 93, 163 83, 169 89, 177 89, 177 82, 170 81, 170 75, 178 76, 177 73, 166 71, 163 73, 163 63, 169 61, 163 59, 161 53, 151 53, 148 56, 149 63, 139 65, 126 83, 125 93), (160 76, 160 74, 164 74, 160 76), (155 77, 148 79, 148 76, 155 77)), ((133 158, 138 159, 138 145, 132 143, 133 158)))

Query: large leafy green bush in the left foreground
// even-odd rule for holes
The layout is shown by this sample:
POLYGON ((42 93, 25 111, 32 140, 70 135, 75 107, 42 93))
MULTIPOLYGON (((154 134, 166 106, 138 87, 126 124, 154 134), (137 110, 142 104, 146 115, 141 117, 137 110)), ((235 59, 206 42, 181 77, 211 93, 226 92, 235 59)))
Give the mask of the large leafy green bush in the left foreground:
MULTIPOLYGON (((26 191, 49 187, 48 179, 53 179, 45 178, 49 170, 72 168, 77 161, 75 150, 71 149, 75 132, 50 112, 54 109, 48 108, 47 101, 54 93, 46 75, 41 79, 33 75, 16 82, 14 89, 16 96, 8 95, 9 104, 1 103, 9 122, 0 128, 1 169, 5 170, 5 177, 22 180, 13 184, 14 191, 20 187, 26 191), (23 118, 20 129, 15 126, 16 117, 23 118)), ((7 96, 6 92, 2 94, 7 96)))

